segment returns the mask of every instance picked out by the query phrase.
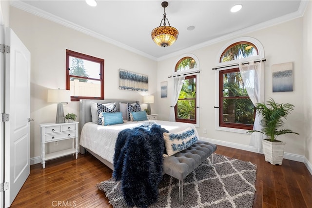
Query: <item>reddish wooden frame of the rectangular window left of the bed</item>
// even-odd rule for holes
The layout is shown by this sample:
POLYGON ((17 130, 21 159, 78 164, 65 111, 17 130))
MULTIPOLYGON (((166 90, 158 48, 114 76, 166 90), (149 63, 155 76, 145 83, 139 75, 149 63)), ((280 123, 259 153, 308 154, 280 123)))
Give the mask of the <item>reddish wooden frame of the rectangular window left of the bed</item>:
POLYGON ((96 58, 93 56, 89 56, 89 55, 85 55, 82 53, 78 53, 75 51, 71 51, 71 50, 67 50, 66 49, 66 89, 70 90, 70 78, 83 78, 86 80, 94 80, 94 81, 99 81, 100 82, 100 87, 101 87, 101 91, 100 91, 100 97, 88 97, 88 96, 71 96, 71 101, 79 101, 80 99, 93 99, 93 100, 104 100, 104 60, 100 59, 100 58, 96 58), (69 57, 76 57, 79 59, 84 59, 84 60, 88 60, 91 62, 97 62, 100 64, 100 74, 99 74, 99 79, 95 79, 95 78, 89 78, 89 77, 80 77, 80 76, 75 76, 75 75, 71 75, 70 72, 70 65, 69 65, 69 57))

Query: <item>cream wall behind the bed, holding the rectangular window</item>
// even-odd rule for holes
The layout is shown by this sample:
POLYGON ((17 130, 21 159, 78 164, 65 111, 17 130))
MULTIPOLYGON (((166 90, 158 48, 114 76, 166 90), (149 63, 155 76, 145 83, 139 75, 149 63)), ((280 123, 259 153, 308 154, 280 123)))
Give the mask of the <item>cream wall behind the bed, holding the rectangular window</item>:
MULTIPOLYGON (((118 89, 118 69, 149 76, 149 94, 156 93, 156 62, 112 44, 10 7, 10 26, 31 52, 31 144, 30 157, 40 156, 39 124, 55 122, 57 104, 46 102, 46 89, 65 88, 65 50, 104 59, 105 99, 131 99, 142 103, 143 92, 118 89)), ((145 93, 147 94, 147 93, 145 93)), ((145 95, 144 94, 144 95, 145 95)), ((153 109, 152 111, 156 111, 153 109)), ((64 104, 64 112, 79 114, 79 102, 64 104)), ((71 146, 60 141, 50 151, 71 146), (62 143, 61 143, 62 142, 62 143)))

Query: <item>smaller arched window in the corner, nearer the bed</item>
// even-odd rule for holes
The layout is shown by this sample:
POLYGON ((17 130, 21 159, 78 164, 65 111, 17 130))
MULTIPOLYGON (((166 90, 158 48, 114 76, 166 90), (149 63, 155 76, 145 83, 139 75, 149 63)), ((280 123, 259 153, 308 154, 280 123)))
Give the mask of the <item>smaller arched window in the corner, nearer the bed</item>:
POLYGON ((199 100, 198 69, 199 61, 193 54, 186 54, 176 62, 175 74, 185 74, 182 89, 175 105, 177 122, 199 125, 197 108, 197 101, 199 100))

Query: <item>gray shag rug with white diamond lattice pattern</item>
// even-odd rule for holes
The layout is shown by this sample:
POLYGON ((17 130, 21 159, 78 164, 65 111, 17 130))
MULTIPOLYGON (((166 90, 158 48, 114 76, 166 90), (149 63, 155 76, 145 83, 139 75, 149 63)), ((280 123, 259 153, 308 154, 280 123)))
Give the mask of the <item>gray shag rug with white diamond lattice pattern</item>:
MULTIPOLYGON (((158 201, 150 208, 252 208, 256 165, 215 154, 184 179, 184 200, 179 203, 178 180, 163 175, 158 201)), ((120 182, 113 178, 97 184, 114 208, 127 208, 120 182)))

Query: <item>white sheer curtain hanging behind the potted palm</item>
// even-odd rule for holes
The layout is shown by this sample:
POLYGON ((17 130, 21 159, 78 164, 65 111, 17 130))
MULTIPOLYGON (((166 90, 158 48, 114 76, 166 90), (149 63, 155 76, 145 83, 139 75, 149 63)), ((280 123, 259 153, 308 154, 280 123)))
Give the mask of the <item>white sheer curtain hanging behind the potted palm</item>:
MULTIPOLYGON (((239 63, 239 71, 242 76, 244 85, 246 87, 250 100, 255 105, 256 103, 264 102, 264 64, 260 62, 254 63, 251 61, 249 64, 239 63)), ((262 116, 256 112, 254 119, 254 130, 261 131, 260 125, 262 116)), ((258 152, 262 151, 262 139, 264 135, 259 132, 254 132, 250 141, 250 145, 257 148, 258 152)))

